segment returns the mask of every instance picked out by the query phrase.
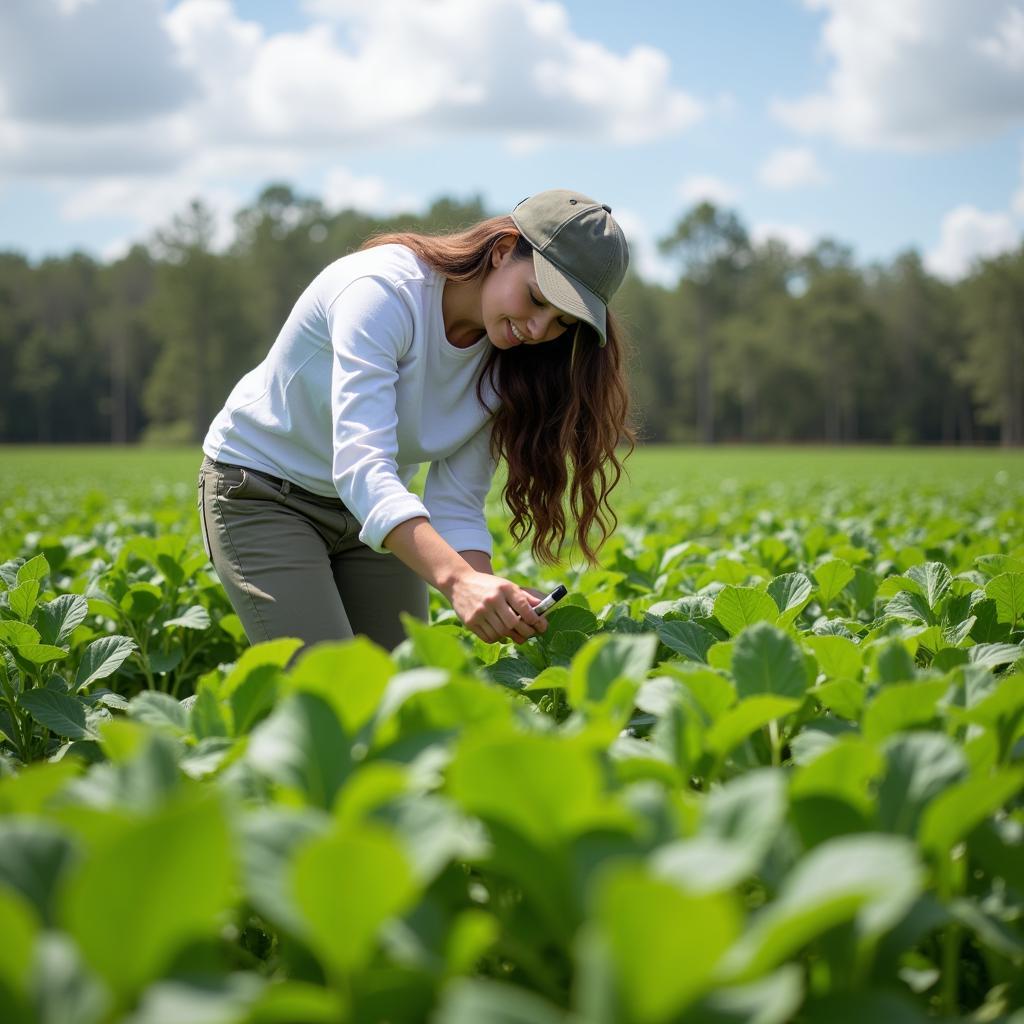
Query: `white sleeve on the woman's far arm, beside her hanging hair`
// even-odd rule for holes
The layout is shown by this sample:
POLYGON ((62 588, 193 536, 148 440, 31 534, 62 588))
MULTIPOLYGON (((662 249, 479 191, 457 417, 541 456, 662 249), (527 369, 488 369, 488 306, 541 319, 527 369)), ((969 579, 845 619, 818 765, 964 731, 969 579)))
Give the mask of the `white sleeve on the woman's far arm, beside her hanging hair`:
POLYGON ((492 553, 483 503, 494 472, 489 422, 446 459, 431 463, 427 471, 424 502, 434 529, 456 551, 492 553))

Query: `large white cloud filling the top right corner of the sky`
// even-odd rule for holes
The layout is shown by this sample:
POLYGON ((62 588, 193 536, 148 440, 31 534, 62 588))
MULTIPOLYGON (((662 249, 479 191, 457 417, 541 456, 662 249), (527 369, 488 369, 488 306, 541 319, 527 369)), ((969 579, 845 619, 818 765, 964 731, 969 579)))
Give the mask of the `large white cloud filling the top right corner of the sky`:
POLYGON ((825 12, 825 91, 776 99, 792 129, 923 151, 1024 120, 1022 0, 804 0, 825 12))

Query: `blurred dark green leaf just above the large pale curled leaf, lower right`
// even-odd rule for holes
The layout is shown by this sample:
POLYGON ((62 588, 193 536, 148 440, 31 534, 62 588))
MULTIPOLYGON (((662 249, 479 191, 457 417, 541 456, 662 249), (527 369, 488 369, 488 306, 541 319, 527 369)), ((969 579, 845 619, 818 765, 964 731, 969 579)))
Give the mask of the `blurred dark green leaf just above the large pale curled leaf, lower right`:
POLYGON ((926 805, 967 771, 961 749, 938 732, 890 737, 883 752, 886 773, 879 786, 879 824, 886 831, 914 836, 926 805))

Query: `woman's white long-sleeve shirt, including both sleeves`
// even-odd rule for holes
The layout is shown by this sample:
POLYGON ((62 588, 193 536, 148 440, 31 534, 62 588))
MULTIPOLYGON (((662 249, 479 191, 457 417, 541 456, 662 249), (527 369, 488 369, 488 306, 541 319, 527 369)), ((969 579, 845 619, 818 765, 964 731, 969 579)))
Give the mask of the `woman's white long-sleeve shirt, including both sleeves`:
MULTIPOLYGON (((457 551, 489 555, 495 467, 476 381, 490 342, 447 340, 444 280, 398 245, 331 263, 236 385, 203 451, 340 497, 377 551, 398 523, 426 516, 457 551), (408 484, 425 462, 420 501, 408 484)), ((495 408, 489 387, 483 394, 495 408)))

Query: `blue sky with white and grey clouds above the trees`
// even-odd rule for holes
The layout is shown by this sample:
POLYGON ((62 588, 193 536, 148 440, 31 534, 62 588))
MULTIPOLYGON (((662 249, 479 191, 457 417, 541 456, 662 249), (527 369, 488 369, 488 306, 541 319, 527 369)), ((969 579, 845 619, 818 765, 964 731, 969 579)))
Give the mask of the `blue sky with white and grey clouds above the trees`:
POLYGON ((1024 0, 2 0, 0 250, 116 259, 199 197, 696 203, 955 281, 1024 234, 1024 0))

